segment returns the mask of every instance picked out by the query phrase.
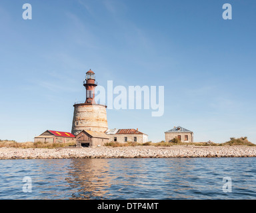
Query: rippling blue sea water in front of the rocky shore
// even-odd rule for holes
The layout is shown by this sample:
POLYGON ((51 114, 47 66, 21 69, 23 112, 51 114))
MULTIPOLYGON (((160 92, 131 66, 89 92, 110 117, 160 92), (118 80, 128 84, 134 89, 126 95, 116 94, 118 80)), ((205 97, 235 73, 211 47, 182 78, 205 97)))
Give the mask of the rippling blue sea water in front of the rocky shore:
POLYGON ((0 199, 255 199, 256 158, 1 160, 0 199), (32 192, 23 192, 23 178, 32 192), (223 177, 232 192, 223 192, 223 177))

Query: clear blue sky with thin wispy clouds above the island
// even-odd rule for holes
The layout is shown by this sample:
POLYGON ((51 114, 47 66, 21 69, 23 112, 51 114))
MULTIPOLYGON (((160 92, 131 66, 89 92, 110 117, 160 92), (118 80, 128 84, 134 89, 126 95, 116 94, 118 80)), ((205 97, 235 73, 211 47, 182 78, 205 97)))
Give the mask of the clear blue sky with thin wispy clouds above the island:
POLYGON ((197 142, 256 143, 255 11, 253 0, 1 0, 0 138, 71 131, 91 69, 103 87, 165 87, 163 116, 107 110, 109 128, 139 128, 157 142, 183 126, 197 142))

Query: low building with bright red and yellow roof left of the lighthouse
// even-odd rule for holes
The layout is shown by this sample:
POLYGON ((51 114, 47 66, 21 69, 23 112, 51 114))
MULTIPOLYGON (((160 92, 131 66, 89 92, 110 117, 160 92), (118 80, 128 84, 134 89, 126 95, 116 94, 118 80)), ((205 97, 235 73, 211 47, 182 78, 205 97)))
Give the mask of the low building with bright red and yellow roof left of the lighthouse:
POLYGON ((35 136, 34 142, 75 142, 75 135, 70 132, 46 130, 39 136, 35 136))

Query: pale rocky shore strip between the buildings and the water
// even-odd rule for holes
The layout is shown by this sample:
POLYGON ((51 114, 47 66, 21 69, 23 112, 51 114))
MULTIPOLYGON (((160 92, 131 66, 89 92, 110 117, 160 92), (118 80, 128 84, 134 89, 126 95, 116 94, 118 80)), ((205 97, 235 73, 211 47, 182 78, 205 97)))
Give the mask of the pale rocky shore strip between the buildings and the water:
POLYGON ((0 148, 0 159, 255 157, 256 146, 0 148))

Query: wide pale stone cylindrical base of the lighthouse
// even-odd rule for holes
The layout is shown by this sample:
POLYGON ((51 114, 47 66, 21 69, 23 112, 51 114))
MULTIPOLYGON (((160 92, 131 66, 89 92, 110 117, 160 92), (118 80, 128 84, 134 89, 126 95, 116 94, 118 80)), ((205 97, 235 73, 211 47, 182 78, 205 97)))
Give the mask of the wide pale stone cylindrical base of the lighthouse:
POLYGON ((107 130, 107 111, 104 105, 74 105, 71 133, 77 135, 81 130, 105 132, 107 130))

